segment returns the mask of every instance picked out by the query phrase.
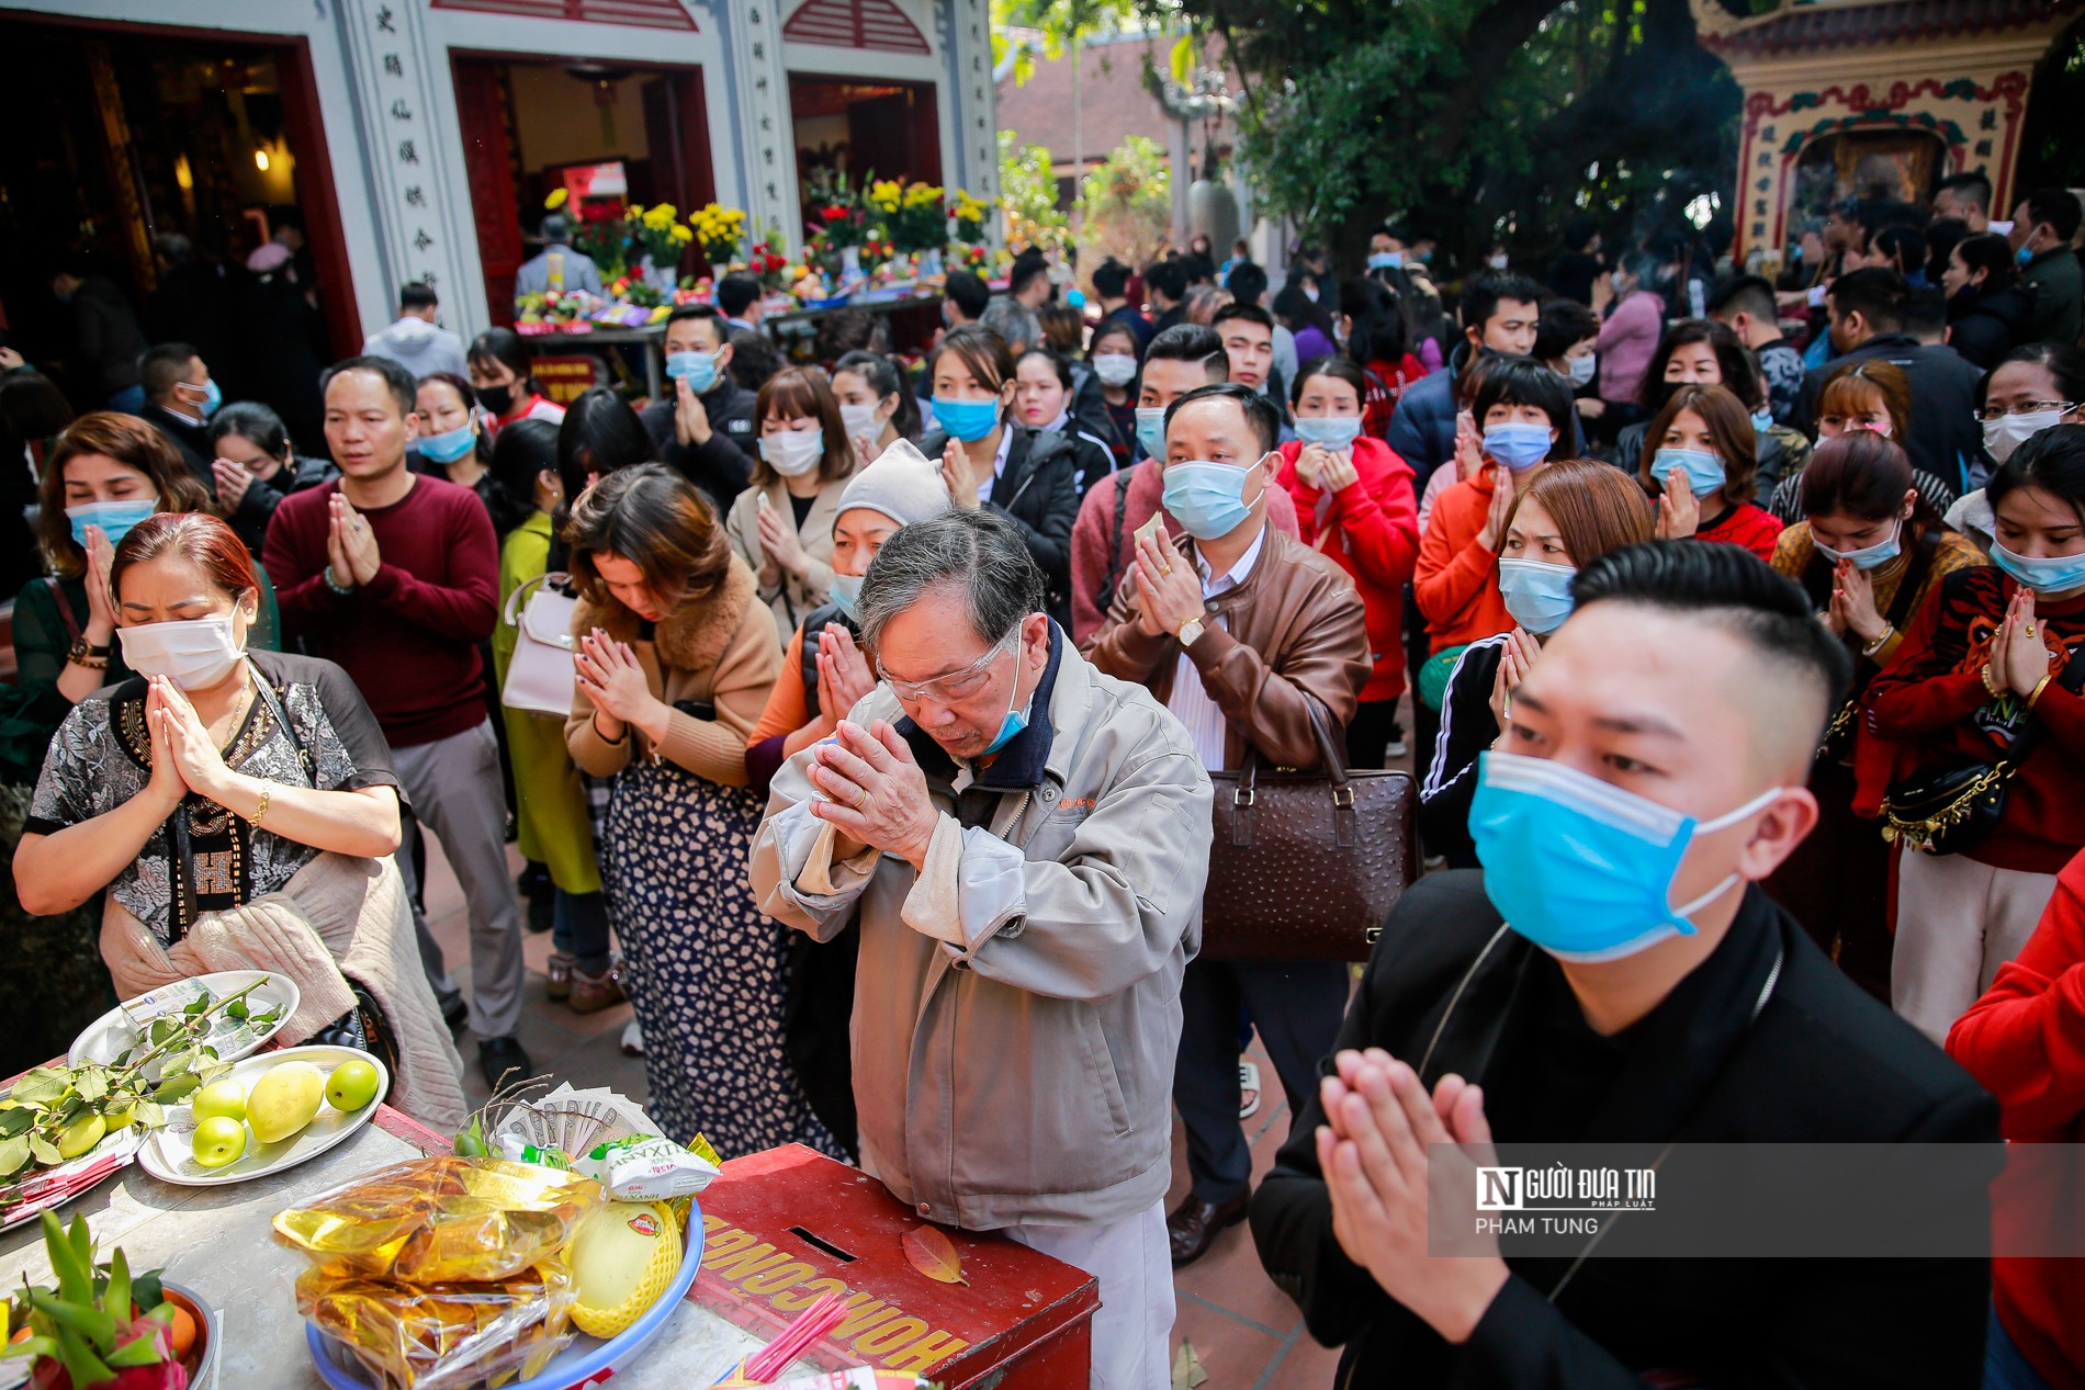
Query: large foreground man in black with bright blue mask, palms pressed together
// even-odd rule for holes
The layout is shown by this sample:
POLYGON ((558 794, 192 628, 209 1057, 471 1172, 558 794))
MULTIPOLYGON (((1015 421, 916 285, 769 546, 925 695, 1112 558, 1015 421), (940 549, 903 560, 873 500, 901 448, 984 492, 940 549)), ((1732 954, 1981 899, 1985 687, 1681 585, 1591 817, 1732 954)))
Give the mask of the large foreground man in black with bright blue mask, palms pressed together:
MULTIPOLYGON (((1668 1177, 1693 1144, 1993 1144, 1997 1167, 1989 1096, 1758 886, 1816 823, 1847 679, 1801 592, 1651 542, 1580 569, 1576 602, 1485 754, 1489 869, 1391 915, 1253 1198, 1261 1261, 1347 1344, 1343 1386, 1983 1384, 1983 1259, 1428 1255, 1426 1144, 1668 1146, 1668 1177)), ((1981 1234, 1985 1202, 1979 1173, 1922 1215, 1981 1234)))

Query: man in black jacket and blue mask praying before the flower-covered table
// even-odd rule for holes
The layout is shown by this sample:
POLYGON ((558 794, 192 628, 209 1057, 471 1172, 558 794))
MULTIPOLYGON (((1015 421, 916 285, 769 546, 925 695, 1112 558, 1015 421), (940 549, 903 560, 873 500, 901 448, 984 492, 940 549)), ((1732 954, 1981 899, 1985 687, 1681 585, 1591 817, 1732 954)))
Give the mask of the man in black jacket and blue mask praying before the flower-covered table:
POLYGON ((709 304, 682 304, 665 321, 669 400, 638 413, 659 446, 659 461, 730 511, 759 461, 755 394, 732 381, 732 344, 723 315, 709 304))

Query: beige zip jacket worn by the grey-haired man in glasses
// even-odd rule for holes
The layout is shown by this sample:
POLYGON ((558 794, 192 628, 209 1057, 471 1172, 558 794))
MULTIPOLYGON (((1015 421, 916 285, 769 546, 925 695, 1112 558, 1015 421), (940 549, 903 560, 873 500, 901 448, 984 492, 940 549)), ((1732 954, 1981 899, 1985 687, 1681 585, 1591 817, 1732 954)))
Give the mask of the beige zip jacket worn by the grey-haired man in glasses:
MULTIPOLYGON (((909 723, 940 809, 913 873, 832 861, 805 800, 813 748, 774 779, 753 842, 761 911, 832 940, 861 923, 861 1165, 919 1215, 967 1230, 1107 1223, 1172 1182, 1180 977, 1201 944, 1209 777, 1180 721, 1055 634, 1047 719, 980 773, 909 723)), ((876 688, 855 723, 903 719, 876 688)))

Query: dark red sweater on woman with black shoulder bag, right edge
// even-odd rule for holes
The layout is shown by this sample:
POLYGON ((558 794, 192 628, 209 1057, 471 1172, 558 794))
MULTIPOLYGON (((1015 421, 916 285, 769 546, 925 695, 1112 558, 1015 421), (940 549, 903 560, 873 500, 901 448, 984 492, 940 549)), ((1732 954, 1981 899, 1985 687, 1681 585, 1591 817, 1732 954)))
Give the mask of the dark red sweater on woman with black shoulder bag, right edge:
MULTIPOLYGON (((1943 771, 2002 756, 2027 725, 2025 700, 2000 700, 1983 686, 1991 634, 2006 617, 2018 584, 2004 571, 1958 569, 1918 609, 1897 659, 1868 684, 1868 729, 1904 744, 1897 775, 1943 771)), ((2085 598, 2037 604, 2035 623, 2050 648, 2050 669, 2062 671, 2085 644, 2085 598)), ((1970 850, 2000 869, 2058 873, 2085 848, 2085 698, 2050 681, 2035 704, 2047 729, 2006 788, 2006 815, 1970 850)))

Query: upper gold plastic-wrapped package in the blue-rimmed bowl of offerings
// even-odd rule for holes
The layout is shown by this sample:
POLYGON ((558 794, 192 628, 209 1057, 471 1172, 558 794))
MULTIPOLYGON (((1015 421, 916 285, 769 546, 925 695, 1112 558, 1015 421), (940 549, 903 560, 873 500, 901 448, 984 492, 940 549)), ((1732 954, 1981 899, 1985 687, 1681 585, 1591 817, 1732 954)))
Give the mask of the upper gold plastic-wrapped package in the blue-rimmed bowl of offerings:
POLYGON ((563 1250, 603 1200, 580 1173, 440 1155, 275 1213, 275 1236, 336 1277, 490 1284, 563 1250))

